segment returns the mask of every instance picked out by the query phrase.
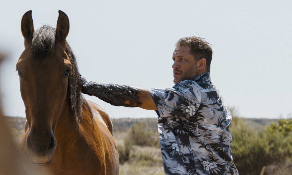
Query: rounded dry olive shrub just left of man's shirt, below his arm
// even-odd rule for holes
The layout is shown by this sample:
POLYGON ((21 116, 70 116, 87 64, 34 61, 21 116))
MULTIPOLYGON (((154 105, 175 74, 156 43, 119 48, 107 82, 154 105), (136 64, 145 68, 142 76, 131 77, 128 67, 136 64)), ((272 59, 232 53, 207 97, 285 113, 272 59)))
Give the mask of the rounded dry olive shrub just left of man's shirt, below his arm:
POLYGON ((133 124, 130 130, 130 138, 139 146, 157 146, 159 147, 158 133, 153 131, 146 122, 133 124))

